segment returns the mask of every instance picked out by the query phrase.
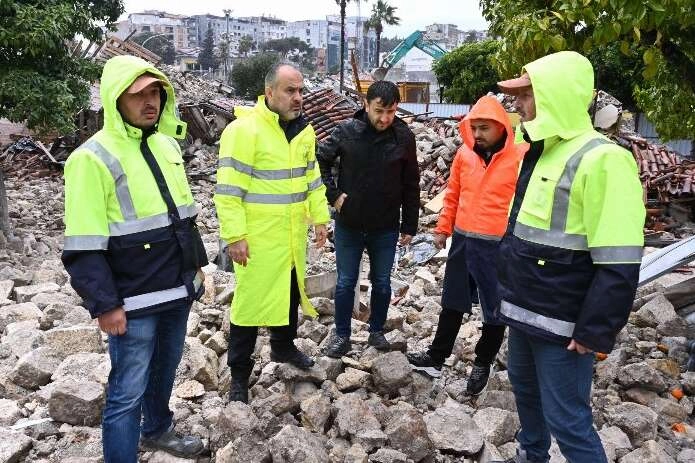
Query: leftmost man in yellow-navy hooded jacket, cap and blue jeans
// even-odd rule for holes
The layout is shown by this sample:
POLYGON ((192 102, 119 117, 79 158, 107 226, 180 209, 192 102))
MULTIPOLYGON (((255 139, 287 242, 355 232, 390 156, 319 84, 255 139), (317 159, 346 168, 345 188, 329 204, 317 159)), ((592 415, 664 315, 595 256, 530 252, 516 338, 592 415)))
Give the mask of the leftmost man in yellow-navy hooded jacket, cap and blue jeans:
POLYGON ((104 127, 65 165, 62 260, 109 336, 104 461, 135 463, 141 434, 147 447, 193 457, 201 440, 178 437, 169 410, 207 264, 174 140, 186 124, 166 76, 140 58, 108 60, 100 93, 104 127))

